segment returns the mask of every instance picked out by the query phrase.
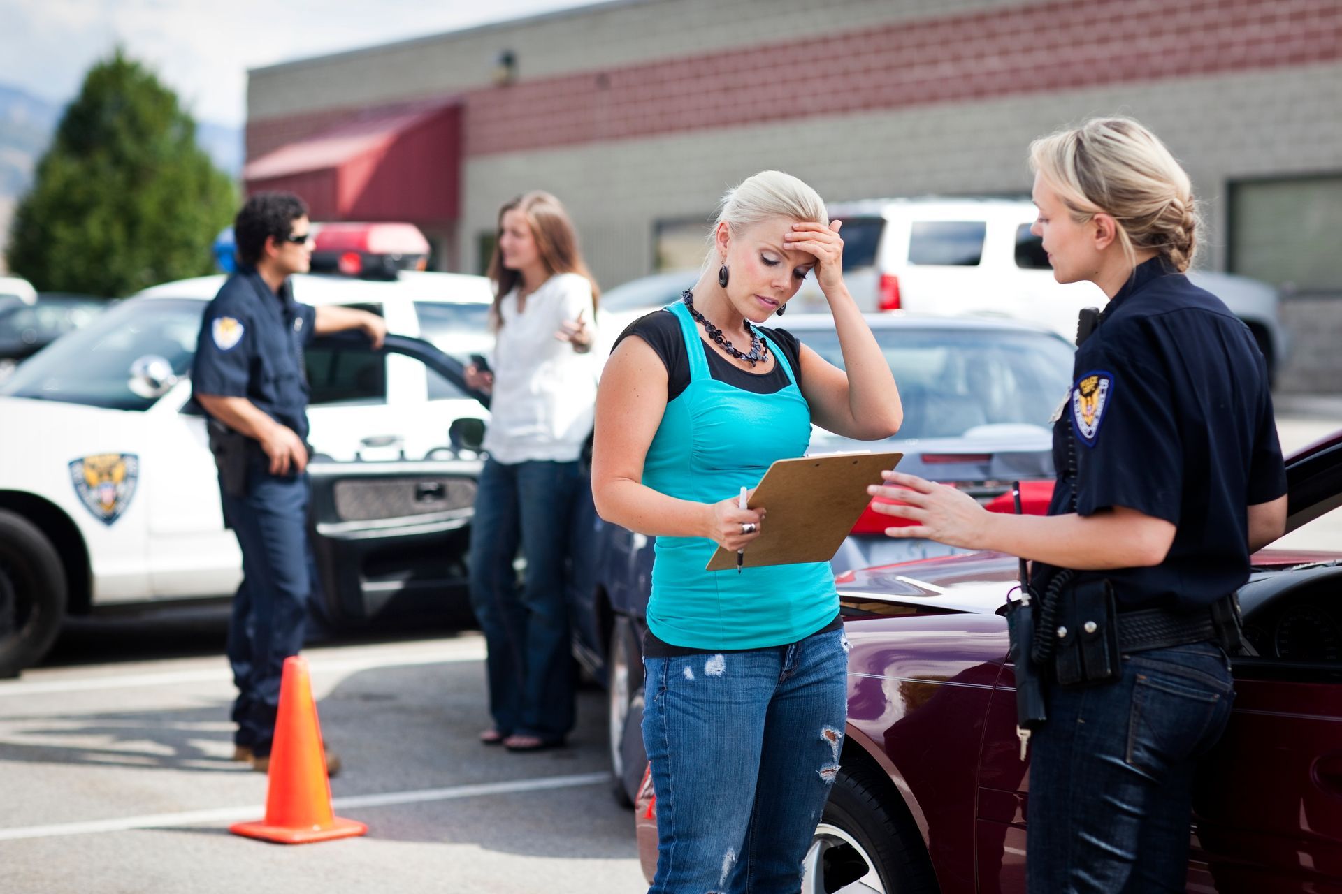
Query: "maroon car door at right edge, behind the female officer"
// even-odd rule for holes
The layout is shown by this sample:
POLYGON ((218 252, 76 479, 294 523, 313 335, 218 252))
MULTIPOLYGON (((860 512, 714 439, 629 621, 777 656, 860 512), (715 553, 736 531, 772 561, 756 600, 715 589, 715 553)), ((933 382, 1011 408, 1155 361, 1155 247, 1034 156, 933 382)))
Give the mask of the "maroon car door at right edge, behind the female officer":
POLYGON ((1231 721, 1193 789, 1189 890, 1342 878, 1342 437, 1291 457, 1287 481, 1288 533, 1255 558, 1274 570, 1240 590, 1257 654, 1231 661, 1231 721))

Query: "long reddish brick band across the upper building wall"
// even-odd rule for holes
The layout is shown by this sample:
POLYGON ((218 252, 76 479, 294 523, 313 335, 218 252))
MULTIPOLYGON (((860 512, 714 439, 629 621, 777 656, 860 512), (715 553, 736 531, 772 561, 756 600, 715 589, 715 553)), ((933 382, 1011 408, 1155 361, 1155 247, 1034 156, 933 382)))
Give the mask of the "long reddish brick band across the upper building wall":
MULTIPOLYGON (((1342 59, 1342 3, 1062 0, 467 94, 466 153, 960 103, 1342 59)), ((603 60, 604 62, 604 60, 603 60)))

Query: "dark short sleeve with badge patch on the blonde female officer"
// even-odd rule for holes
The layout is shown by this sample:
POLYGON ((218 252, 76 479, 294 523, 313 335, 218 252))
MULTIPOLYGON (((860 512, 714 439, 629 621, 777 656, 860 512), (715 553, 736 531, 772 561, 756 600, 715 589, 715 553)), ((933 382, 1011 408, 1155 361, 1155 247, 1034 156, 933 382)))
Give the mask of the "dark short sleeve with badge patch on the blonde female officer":
POLYGON ((1078 361, 1067 413, 1079 515, 1127 507, 1180 523, 1184 452, 1174 394, 1149 353, 1139 338, 1113 338, 1078 361))

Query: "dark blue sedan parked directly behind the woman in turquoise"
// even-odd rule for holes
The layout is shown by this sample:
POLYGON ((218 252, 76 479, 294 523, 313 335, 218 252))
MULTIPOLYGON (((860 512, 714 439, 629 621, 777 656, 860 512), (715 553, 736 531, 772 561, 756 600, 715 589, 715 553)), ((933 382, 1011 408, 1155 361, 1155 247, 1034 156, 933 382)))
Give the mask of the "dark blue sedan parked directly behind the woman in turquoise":
MULTIPOLYGON (((984 504, 1005 505, 1012 481, 1035 487, 1032 509, 1052 493, 1049 417, 1067 393, 1072 346, 1011 320, 870 315, 905 406, 899 433, 887 441, 849 441, 815 429, 811 453, 899 450, 899 468, 953 483, 984 504), (1043 488, 1043 492, 1037 492, 1043 488)), ((843 366, 828 315, 788 316, 788 331, 831 363, 843 366)), ((643 767, 641 655, 652 583, 652 539, 609 524, 589 511, 592 579, 573 594, 574 653, 607 684, 615 792, 628 802, 643 767)), ((867 509, 833 559, 836 572, 957 552, 930 540, 894 540, 898 524, 867 509)))

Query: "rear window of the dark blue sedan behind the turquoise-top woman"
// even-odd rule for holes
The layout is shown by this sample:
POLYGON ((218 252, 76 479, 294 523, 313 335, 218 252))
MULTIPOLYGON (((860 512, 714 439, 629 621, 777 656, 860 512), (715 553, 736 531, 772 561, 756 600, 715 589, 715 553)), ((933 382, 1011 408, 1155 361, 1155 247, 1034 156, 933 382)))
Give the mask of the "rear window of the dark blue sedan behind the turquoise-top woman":
MULTIPOLYGON (((792 332, 843 367, 833 330, 792 332)), ((905 407, 898 440, 990 436, 986 426, 1047 434, 1071 382, 1072 347, 1048 332, 910 326, 875 334, 905 407)))

